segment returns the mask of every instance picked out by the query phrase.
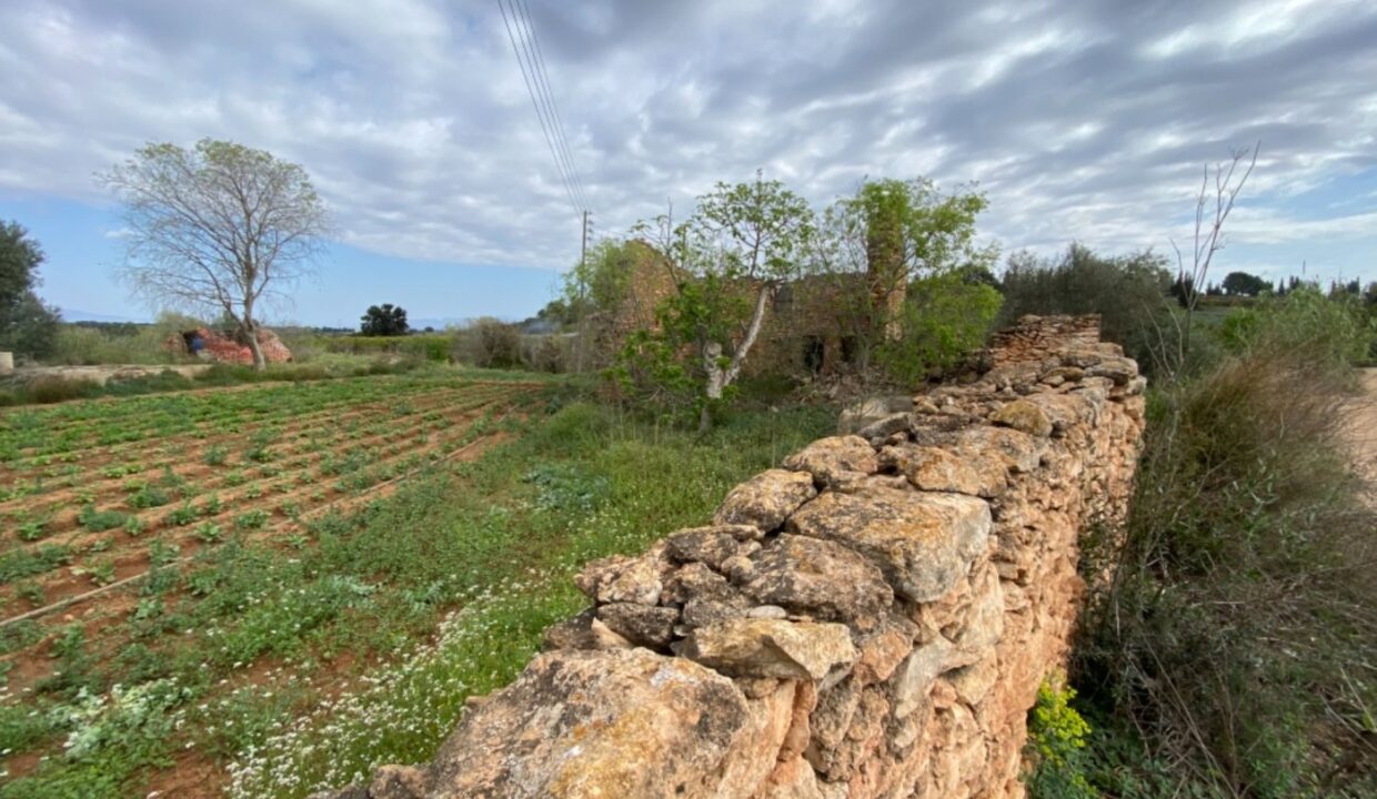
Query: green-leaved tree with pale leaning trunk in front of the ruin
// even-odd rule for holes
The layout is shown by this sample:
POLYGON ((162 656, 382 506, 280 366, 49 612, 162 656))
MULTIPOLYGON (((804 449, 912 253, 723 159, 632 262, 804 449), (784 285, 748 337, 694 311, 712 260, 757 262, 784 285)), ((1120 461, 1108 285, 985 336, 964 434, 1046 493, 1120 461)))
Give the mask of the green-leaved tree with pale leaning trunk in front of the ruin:
MULTIPOLYGON (((750 183, 717 183, 679 226, 664 216, 639 230, 658 235, 677 290, 658 309, 658 341, 629 347, 660 360, 684 349, 693 353, 687 364, 649 371, 680 374, 680 382, 695 385, 698 426, 708 429, 712 408, 728 399, 750 355, 771 300, 800 272, 814 235, 812 210, 781 182, 757 173, 750 183)), ((635 359, 628 353, 622 360, 635 359)))

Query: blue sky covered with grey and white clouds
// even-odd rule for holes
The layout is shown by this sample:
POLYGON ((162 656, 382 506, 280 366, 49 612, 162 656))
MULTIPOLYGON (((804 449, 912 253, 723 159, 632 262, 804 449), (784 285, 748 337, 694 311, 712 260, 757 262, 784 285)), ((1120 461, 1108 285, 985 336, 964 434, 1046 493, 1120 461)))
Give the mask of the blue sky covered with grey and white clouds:
MULTIPOLYGON (((600 234, 760 168, 818 208, 978 180, 1005 252, 1169 252, 1202 165, 1260 140, 1216 276, 1377 279, 1371 0, 526 3, 600 234)), ((578 256, 496 0, 0 3, 0 219, 50 301, 147 315, 91 176, 204 136, 302 164, 333 210, 291 319, 519 318, 578 256)))

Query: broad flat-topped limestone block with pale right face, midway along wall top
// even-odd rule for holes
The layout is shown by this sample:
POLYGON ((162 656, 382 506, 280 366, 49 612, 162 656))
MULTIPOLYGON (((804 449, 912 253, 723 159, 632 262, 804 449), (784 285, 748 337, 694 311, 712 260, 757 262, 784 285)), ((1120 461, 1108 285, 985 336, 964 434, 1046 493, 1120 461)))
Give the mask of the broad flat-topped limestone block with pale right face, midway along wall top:
POLYGON ((964 578, 990 529, 985 501, 913 491, 828 492, 789 518, 790 532, 866 556, 896 593, 916 602, 936 600, 964 578))

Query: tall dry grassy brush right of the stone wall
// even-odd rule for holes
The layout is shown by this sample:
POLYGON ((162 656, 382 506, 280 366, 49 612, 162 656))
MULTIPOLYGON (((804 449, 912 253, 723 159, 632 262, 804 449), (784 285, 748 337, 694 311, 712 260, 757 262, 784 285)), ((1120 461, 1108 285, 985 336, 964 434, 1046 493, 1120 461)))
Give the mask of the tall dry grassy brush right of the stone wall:
POLYGON ((1360 329, 1299 290, 1151 396, 1121 538, 1084 553, 1075 681, 1195 795, 1366 796, 1377 513, 1340 450, 1360 329), (1113 542, 1113 543, 1111 543, 1113 542))

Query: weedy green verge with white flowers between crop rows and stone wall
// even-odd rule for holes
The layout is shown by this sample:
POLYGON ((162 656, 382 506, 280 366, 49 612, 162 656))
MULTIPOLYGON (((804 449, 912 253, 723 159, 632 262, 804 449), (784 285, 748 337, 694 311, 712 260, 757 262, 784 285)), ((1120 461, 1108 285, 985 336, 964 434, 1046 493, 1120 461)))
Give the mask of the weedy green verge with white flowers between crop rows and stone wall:
POLYGON ((47 759, 0 796, 128 795, 183 748, 233 758, 241 796, 424 759, 465 696, 509 679, 577 611, 578 564, 701 523, 830 425, 742 413, 700 439, 573 404, 307 538, 208 550, 147 580, 121 620, 129 645, 101 652, 73 627, 54 646, 61 678, 4 699, 0 749, 47 759))

